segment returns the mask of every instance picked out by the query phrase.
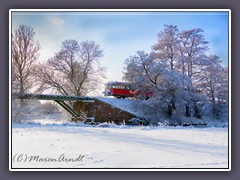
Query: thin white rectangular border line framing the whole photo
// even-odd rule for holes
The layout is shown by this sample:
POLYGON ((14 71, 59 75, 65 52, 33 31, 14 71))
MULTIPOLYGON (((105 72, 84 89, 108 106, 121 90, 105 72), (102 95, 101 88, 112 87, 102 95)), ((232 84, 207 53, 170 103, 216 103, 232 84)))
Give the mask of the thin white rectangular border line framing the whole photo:
POLYGON ((229 118, 228 118, 228 168, 12 168, 12 86, 9 63, 9 171, 231 171, 231 10, 230 9, 10 9, 9 10, 9 62, 11 62, 13 12, 228 12, 228 68, 229 68, 229 118))

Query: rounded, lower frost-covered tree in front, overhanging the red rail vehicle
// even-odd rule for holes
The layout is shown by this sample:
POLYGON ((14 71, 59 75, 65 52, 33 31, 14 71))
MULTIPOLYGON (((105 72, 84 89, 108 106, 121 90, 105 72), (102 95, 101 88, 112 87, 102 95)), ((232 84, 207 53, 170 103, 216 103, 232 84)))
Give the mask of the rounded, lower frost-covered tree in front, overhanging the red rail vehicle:
POLYGON ((163 108, 169 117, 180 107, 177 104, 186 104, 187 92, 192 87, 188 76, 174 70, 169 71, 166 63, 159 60, 155 53, 143 51, 126 59, 124 79, 132 82, 143 93, 152 92, 152 100, 159 102, 158 105, 152 104, 163 108))

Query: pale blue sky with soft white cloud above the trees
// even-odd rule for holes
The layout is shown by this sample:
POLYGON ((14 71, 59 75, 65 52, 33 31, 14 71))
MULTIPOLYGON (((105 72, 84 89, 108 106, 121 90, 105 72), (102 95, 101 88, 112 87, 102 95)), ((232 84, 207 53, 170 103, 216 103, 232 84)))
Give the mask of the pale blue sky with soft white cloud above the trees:
POLYGON ((40 60, 60 50, 61 42, 93 40, 104 51, 106 81, 121 81, 124 61, 138 50, 151 51, 164 25, 179 30, 201 28, 210 53, 228 64, 228 12, 12 12, 12 31, 20 24, 31 26, 41 45, 40 60))

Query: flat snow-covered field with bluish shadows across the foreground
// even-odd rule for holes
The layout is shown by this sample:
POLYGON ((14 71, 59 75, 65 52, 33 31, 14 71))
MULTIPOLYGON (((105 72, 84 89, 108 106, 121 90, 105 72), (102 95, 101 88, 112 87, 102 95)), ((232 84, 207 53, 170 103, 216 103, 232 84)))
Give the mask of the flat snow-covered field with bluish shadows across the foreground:
POLYGON ((228 128, 13 123, 12 168, 228 168, 228 128))

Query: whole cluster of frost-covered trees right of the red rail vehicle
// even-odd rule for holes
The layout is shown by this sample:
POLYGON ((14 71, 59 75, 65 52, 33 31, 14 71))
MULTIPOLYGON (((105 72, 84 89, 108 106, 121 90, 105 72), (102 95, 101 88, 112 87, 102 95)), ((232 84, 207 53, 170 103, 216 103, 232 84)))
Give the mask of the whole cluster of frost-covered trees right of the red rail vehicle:
POLYGON ((163 114, 171 119, 201 119, 209 108, 219 118, 228 105, 228 71, 217 56, 208 55, 203 30, 179 32, 177 26, 165 25, 152 49, 150 54, 138 51, 125 61, 123 79, 154 94, 136 106, 154 121, 163 114))

